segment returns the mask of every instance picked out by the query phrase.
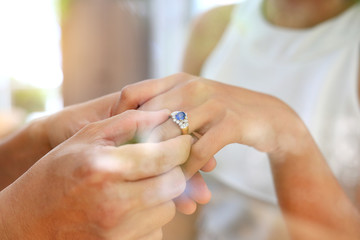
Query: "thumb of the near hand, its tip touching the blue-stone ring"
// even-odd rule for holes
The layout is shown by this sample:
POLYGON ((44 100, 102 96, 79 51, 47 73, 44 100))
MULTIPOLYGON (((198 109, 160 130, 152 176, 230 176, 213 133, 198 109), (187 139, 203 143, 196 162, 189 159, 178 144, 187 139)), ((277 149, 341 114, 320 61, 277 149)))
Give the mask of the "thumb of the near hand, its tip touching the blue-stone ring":
POLYGON ((120 115, 88 124, 81 131, 86 138, 106 140, 107 145, 121 145, 137 134, 144 134, 168 119, 169 111, 144 112, 129 110, 120 115), (111 144, 110 144, 111 143, 111 144))

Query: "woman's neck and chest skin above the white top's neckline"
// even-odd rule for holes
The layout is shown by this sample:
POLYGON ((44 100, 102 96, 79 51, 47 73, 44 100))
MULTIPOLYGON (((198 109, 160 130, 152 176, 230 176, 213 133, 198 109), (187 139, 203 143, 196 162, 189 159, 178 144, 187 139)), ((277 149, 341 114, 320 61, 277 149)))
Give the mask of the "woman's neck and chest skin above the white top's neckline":
POLYGON ((264 0, 264 14, 274 25, 309 28, 333 18, 354 0, 264 0))

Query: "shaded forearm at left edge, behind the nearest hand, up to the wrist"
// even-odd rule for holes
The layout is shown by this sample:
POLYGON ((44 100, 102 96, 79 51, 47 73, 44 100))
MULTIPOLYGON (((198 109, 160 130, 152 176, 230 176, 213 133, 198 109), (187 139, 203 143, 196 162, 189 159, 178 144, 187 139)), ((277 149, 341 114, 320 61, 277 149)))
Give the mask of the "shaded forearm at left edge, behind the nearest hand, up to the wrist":
POLYGON ((50 151, 43 120, 37 120, 0 143, 0 189, 4 189, 50 151))

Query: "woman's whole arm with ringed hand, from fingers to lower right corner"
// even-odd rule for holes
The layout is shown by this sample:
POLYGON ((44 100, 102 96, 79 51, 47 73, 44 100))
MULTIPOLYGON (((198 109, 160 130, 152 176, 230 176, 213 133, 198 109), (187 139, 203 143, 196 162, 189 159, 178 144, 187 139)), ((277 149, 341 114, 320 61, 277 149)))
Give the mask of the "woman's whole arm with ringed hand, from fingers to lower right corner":
MULTIPOLYGON (((360 237, 359 212, 332 175, 304 123, 289 106, 266 94, 187 74, 154 79, 137 85, 137 89, 152 89, 171 80, 173 88, 142 104, 140 109, 187 112, 189 131, 201 136, 184 166, 188 178, 224 146, 251 146, 271 158, 280 206, 291 219, 289 229, 295 239, 311 239, 305 237, 299 222, 322 236, 315 239, 327 239, 328 235, 321 233, 328 229, 334 233, 331 236, 360 237)), ((179 134, 179 129, 169 120, 153 134, 167 139, 179 134)))

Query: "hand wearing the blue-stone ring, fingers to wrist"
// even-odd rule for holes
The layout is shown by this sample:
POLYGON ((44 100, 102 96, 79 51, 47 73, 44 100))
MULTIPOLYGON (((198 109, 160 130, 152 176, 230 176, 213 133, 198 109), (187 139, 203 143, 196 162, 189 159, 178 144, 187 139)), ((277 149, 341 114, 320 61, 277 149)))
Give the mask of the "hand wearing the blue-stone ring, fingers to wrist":
MULTIPOLYGON (((275 156, 299 147, 294 140, 306 132, 302 121, 285 103, 240 87, 181 73, 134 84, 124 91, 125 95, 133 95, 143 89, 147 93, 131 99, 133 105, 141 105, 142 110, 185 111, 190 132, 201 136, 185 166, 188 177, 227 144, 245 144, 275 156), (159 94, 152 97, 154 92, 159 94)), ((160 139, 179 133, 171 120, 154 130, 160 139)))

